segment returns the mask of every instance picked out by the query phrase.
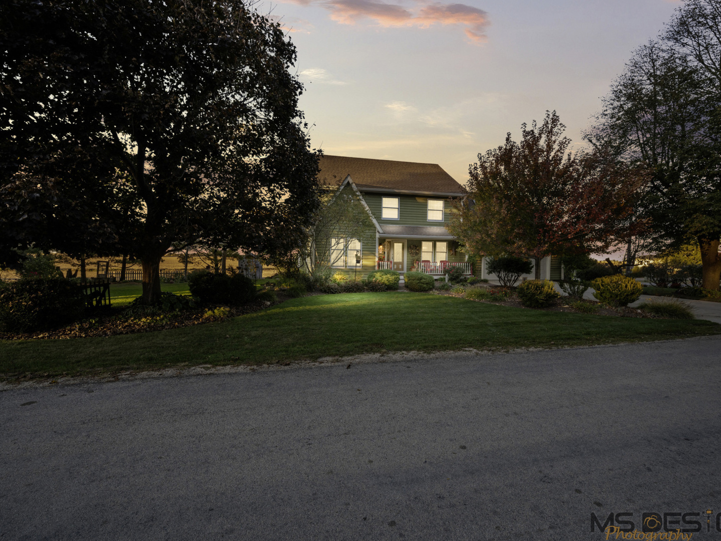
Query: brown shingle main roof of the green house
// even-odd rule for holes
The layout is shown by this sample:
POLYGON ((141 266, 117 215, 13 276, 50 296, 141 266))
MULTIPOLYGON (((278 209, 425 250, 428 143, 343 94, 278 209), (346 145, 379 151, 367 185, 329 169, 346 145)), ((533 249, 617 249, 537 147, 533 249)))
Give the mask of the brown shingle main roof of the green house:
POLYGON ((319 164, 318 180, 322 185, 338 185, 350 175, 361 190, 375 188, 419 193, 463 193, 461 185, 438 164, 345 156, 323 156, 319 164))

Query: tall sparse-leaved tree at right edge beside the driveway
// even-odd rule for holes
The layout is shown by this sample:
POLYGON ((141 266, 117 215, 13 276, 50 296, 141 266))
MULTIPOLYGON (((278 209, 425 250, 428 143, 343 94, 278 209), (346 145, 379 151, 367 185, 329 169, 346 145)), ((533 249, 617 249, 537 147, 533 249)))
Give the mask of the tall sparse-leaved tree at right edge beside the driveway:
POLYGON ((703 285, 721 276, 721 22, 716 1, 686 0, 667 32, 634 51, 588 132, 652 171, 637 212, 657 248, 699 243, 703 285))

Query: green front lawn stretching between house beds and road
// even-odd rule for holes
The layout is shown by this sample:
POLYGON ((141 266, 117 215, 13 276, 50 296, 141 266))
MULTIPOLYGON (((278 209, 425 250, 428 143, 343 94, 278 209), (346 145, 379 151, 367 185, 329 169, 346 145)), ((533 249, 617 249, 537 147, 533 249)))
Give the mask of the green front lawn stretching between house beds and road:
POLYGON ((453 296, 308 296, 219 323, 74 340, 0 342, 1 374, 262 364, 385 351, 557 347, 721 334, 703 320, 510 308, 453 296))

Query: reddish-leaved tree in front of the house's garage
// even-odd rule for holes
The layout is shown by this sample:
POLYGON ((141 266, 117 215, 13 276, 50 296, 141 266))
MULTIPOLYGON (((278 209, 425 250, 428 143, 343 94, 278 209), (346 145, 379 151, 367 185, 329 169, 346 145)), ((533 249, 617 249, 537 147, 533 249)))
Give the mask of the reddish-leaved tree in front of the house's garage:
POLYGON ((456 203, 450 229, 478 255, 597 252, 616 239, 645 180, 604 149, 568 152, 558 115, 522 126, 521 141, 478 155, 468 197, 456 203))

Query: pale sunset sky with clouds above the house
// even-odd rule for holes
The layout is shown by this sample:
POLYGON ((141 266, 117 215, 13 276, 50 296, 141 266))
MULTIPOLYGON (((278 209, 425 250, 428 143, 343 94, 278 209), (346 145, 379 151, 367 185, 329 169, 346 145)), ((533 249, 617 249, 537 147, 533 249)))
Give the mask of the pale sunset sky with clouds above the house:
POLYGON ((283 0, 259 4, 298 50, 300 108, 325 154, 437 163, 556 110, 574 145, 672 0, 283 0))

